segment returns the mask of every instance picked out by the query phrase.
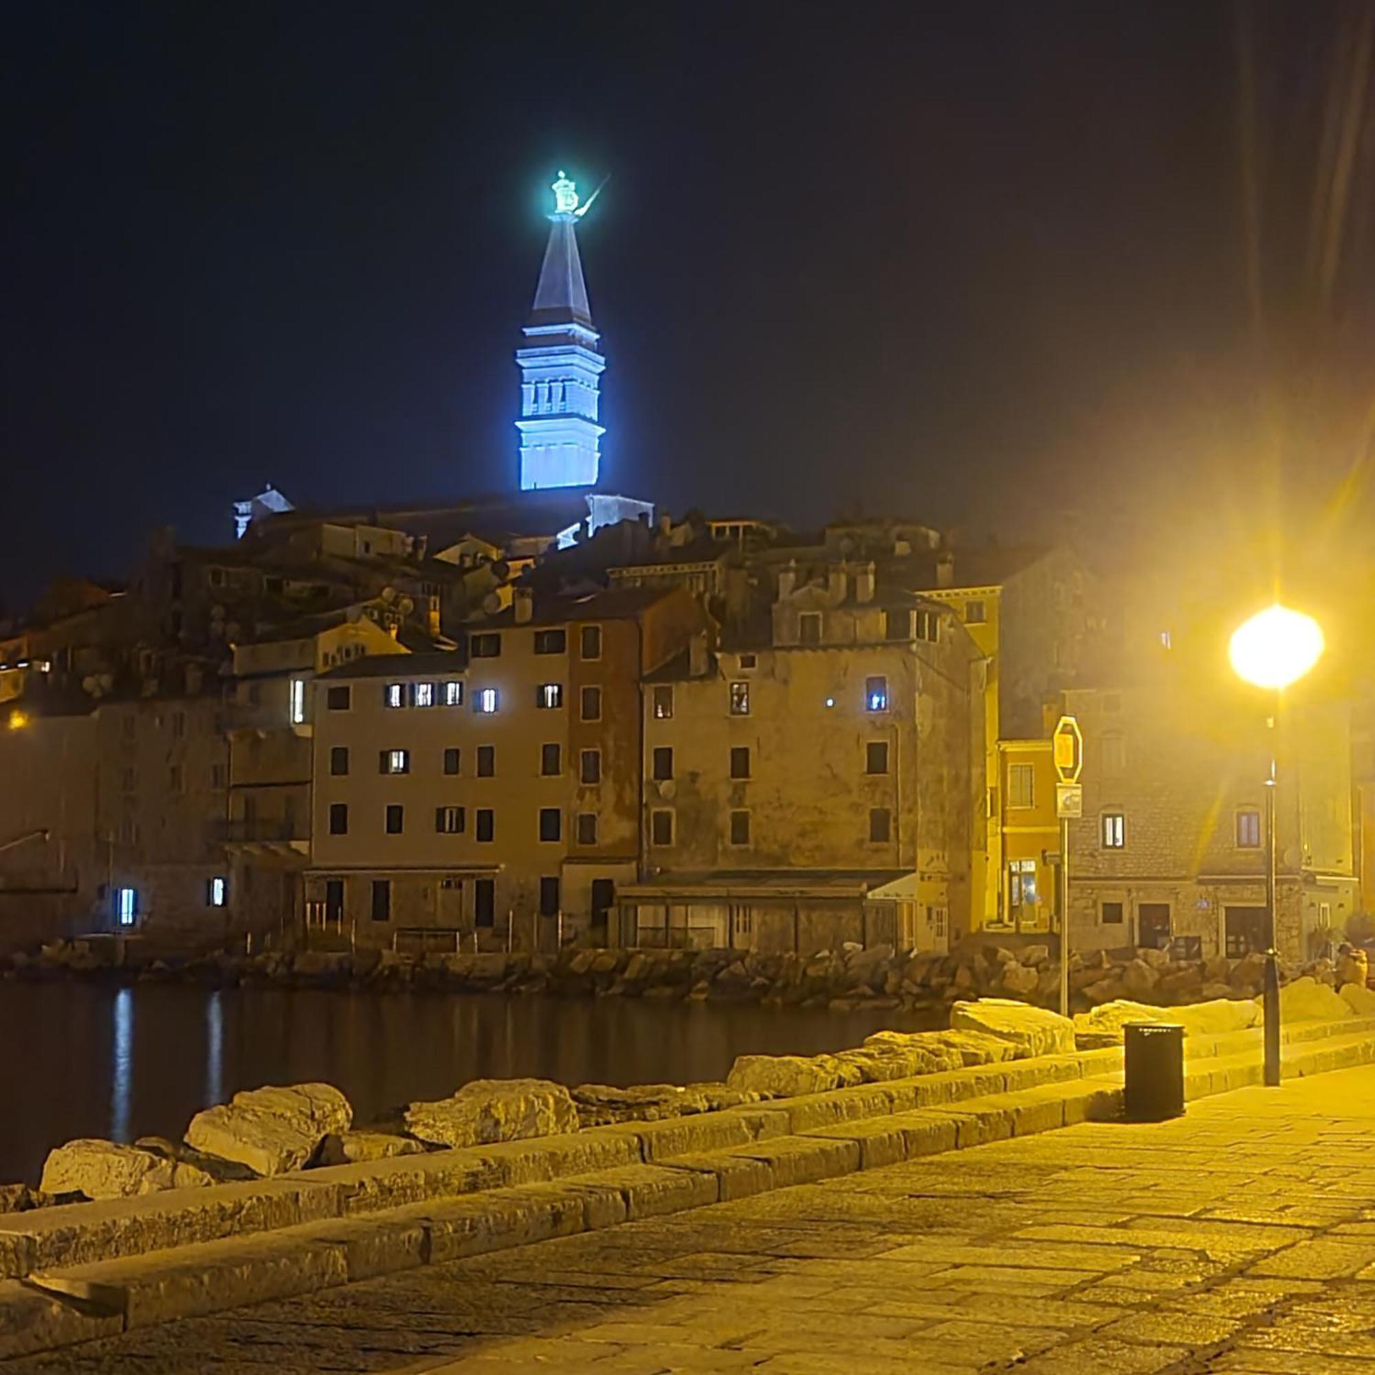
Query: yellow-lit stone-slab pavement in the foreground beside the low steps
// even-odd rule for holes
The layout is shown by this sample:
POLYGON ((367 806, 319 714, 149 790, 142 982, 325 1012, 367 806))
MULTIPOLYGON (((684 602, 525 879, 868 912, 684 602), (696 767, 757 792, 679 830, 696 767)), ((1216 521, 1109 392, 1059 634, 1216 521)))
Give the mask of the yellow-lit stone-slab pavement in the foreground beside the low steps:
POLYGON ((0 1363, 1375 1375, 1375 1066, 0 1363))

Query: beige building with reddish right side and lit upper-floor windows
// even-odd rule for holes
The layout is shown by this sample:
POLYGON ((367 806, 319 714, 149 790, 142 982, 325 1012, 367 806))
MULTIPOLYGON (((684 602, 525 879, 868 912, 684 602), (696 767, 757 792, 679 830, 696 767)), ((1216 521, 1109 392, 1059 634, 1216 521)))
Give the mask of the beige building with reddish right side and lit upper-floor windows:
POLYGON ((605 939, 639 852, 641 678, 704 626, 681 588, 538 613, 522 591, 459 652, 322 674, 311 918, 371 946, 605 939))

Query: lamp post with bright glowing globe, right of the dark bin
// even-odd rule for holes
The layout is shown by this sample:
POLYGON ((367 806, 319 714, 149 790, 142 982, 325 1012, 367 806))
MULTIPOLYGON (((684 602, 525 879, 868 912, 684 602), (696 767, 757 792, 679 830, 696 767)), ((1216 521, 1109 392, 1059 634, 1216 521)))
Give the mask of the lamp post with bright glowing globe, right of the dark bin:
POLYGON ((1269 716, 1270 771, 1265 780, 1265 1084, 1280 1082, 1280 972, 1276 962, 1275 924, 1275 730, 1284 689, 1298 682, 1323 653, 1323 627, 1301 610, 1276 602, 1239 626, 1228 645, 1232 668, 1244 682, 1275 694, 1269 716))

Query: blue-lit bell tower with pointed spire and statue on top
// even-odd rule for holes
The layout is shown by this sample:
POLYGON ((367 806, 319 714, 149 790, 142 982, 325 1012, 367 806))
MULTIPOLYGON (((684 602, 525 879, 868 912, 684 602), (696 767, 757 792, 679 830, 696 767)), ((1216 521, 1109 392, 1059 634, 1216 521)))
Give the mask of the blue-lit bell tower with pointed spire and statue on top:
MULTIPOLYGON (((520 485, 593 487, 601 463, 597 386, 606 359, 597 352, 583 264, 578 257, 578 187, 562 173, 553 184, 549 248, 535 305, 516 349, 520 364, 520 485)), ((595 192, 593 194, 595 198, 595 192)))

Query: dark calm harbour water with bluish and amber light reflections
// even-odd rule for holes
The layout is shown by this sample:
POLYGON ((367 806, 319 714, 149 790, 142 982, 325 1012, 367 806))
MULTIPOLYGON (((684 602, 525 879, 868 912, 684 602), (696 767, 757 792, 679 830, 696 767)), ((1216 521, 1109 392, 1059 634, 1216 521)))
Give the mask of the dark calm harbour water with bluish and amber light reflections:
POLYGON ((720 1079, 737 1055, 815 1055, 940 1013, 771 1011, 624 998, 0 983, 0 1182, 78 1136, 179 1137, 261 1084, 324 1079, 359 1121, 474 1078, 720 1079))

